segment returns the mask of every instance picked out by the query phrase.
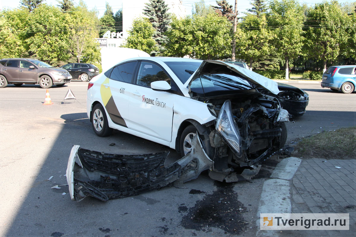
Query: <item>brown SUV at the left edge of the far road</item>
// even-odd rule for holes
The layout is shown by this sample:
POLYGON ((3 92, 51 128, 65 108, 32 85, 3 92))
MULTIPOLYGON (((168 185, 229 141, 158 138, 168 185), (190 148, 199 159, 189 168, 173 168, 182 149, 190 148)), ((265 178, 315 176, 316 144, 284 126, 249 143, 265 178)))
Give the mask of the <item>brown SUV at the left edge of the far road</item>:
POLYGON ((63 86, 70 82, 72 76, 62 68, 33 58, 6 58, 0 60, 0 88, 7 84, 21 86, 22 84, 40 84, 49 88, 53 84, 63 86))

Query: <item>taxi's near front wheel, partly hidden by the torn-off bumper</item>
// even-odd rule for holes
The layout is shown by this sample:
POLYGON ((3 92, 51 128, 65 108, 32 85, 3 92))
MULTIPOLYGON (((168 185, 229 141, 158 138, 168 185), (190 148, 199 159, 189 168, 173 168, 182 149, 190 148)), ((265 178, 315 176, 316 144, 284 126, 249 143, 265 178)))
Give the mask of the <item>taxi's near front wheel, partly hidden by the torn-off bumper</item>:
MULTIPOLYGON (((182 135, 180 136, 179 141, 179 148, 180 148, 180 155, 185 156, 191 150, 191 142, 195 133, 197 133, 197 128, 194 125, 187 126, 184 130, 182 135)), ((200 129, 201 130, 201 129, 200 129)), ((206 130, 206 129, 205 129, 206 130)), ((206 155, 209 156, 210 159, 214 159, 215 156, 215 149, 210 145, 209 133, 206 130, 203 134, 199 133, 199 139, 201 145, 203 146, 206 155)))

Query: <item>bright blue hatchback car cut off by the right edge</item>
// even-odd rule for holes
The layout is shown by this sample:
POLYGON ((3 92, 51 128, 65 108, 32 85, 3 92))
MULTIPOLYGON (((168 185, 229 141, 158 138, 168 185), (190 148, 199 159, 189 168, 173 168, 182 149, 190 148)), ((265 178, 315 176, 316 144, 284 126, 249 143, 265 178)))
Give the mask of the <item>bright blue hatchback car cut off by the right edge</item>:
POLYGON ((345 94, 355 91, 356 65, 331 66, 323 74, 321 87, 328 87, 333 91, 341 90, 345 94))

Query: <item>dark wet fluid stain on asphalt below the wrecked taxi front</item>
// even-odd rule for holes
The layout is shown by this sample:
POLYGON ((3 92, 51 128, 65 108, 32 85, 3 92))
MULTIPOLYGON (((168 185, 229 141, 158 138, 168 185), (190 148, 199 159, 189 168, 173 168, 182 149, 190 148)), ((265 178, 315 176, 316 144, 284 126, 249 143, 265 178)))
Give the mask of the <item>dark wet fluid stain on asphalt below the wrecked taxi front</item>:
MULTIPOLYGON (((216 227, 225 232, 239 234, 247 223, 242 213, 246 208, 238 201, 238 195, 234 192, 234 183, 215 181, 216 190, 213 194, 207 194, 202 200, 197 201, 183 217, 181 225, 186 229, 210 232, 211 227, 216 227)), ((189 193, 199 190, 190 190, 189 193)), ((179 211, 182 211, 182 206, 179 211)))

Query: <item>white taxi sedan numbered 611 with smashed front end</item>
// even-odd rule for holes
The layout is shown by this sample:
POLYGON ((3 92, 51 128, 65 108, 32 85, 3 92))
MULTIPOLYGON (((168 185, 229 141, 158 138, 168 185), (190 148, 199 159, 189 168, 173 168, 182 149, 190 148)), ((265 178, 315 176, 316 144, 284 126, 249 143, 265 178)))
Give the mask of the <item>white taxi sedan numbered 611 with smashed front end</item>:
POLYGON ((87 113, 98 136, 117 129, 182 156, 198 132, 224 173, 256 168, 286 142, 288 112, 259 90, 280 92, 276 82, 222 61, 131 58, 89 82, 87 113))

